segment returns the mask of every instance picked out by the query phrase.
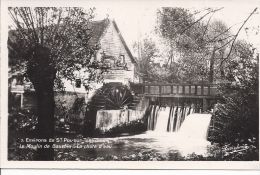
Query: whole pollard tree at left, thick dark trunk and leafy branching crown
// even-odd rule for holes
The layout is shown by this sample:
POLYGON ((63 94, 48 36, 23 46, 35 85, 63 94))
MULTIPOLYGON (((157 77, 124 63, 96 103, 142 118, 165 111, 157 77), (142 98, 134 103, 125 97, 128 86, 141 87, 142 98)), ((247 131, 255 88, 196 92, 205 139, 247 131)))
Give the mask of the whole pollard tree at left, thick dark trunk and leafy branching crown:
MULTIPOLYGON (((75 80, 75 71, 100 75, 92 61, 97 46, 90 44, 93 10, 82 8, 10 7, 13 22, 8 37, 11 71, 32 82, 37 98, 39 138, 54 138, 54 87, 75 80)), ((101 70, 101 71, 100 71, 101 70)), ((99 76, 88 76, 87 82, 99 76)), ((48 142, 50 145, 51 142, 48 142)), ((53 149, 38 149, 38 160, 53 160, 53 149)))

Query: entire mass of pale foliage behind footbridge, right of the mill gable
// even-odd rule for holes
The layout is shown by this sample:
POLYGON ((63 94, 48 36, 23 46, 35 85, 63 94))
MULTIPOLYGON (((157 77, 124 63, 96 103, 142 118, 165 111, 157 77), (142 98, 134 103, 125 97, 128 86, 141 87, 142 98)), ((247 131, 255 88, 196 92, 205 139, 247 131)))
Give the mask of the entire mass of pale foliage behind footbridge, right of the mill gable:
POLYGON ((212 20, 221 9, 159 9, 155 28, 157 42, 147 37, 141 47, 138 45, 141 76, 149 82, 223 81, 240 30, 232 34, 233 26, 212 20))

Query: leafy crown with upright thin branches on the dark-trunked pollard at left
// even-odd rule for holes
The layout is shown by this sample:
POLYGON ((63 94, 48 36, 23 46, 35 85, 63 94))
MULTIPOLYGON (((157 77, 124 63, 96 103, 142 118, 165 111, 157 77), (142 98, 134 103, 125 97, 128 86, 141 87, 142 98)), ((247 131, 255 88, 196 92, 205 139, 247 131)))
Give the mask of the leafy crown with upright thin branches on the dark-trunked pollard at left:
POLYGON ((22 71, 35 83, 36 75, 30 67, 42 64, 34 56, 35 49, 41 46, 50 52, 49 64, 57 72, 57 87, 63 86, 61 78, 75 80, 75 72, 83 68, 89 76, 81 77, 82 82, 100 78, 96 70, 101 63, 91 61, 98 46, 89 43, 94 9, 10 7, 8 10, 13 21, 8 37, 11 71, 22 71))

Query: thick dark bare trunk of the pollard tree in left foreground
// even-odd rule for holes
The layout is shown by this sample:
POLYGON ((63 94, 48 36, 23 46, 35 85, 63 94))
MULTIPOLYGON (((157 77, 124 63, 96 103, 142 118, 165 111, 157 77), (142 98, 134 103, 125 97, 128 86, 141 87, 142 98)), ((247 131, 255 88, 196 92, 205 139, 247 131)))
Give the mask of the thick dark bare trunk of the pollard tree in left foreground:
POLYGON ((48 48, 38 46, 32 50, 33 56, 27 69, 32 81, 37 100, 37 138, 47 139, 47 143, 38 143, 42 148, 37 149, 36 160, 53 160, 54 150, 49 139, 54 138, 54 80, 55 67, 48 48), (48 148, 44 148, 48 145, 48 148))

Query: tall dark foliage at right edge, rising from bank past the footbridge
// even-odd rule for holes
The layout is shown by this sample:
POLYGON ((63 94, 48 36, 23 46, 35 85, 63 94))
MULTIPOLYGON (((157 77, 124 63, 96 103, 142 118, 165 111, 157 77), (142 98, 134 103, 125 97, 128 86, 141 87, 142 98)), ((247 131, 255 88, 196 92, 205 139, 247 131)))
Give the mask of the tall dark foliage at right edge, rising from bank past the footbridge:
POLYGON ((223 101, 212 117, 210 139, 219 143, 248 143, 258 140, 258 56, 247 43, 237 43, 236 58, 230 60, 230 83, 219 87, 223 101))

